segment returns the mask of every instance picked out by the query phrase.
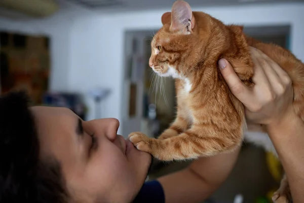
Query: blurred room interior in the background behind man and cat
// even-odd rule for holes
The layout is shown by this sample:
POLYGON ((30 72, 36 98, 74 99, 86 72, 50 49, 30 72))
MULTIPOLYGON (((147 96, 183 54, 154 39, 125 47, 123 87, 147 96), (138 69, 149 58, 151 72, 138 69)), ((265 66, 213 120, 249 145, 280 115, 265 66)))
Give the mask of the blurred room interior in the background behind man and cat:
MULTIPOLYGON (((304 60, 304 1, 188 0, 227 24, 304 60)), ((73 109, 83 119, 118 118, 119 132, 157 137, 175 116, 175 87, 148 65, 150 41, 174 0, 0 1, 0 93, 26 89, 36 105, 73 109)), ((189 162, 156 161, 149 179, 189 162)), ((206 202, 271 202, 282 168, 244 143, 226 182, 206 202)))

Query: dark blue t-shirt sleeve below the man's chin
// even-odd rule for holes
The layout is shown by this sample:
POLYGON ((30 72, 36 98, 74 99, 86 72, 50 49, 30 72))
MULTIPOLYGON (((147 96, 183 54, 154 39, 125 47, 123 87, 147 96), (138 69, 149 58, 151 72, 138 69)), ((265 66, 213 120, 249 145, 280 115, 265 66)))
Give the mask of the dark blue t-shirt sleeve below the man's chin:
POLYGON ((133 203, 165 203, 165 194, 158 181, 145 182, 133 203))

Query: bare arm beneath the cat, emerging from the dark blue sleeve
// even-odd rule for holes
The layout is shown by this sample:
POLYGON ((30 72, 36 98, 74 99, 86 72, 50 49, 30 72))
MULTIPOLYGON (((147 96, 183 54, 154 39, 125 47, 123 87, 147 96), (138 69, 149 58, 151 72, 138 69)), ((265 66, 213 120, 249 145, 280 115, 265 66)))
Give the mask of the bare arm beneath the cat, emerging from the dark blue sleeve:
POLYGON ((201 157, 184 170, 159 178, 165 202, 202 202, 230 175, 239 152, 240 147, 213 157, 201 157))

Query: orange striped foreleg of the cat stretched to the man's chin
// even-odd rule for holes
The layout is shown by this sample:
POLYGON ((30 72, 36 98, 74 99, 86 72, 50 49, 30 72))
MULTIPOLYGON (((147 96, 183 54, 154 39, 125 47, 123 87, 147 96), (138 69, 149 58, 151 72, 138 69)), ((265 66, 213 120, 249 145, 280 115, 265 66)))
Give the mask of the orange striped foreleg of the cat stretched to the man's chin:
POLYGON ((129 139, 138 150, 148 152, 159 160, 171 161, 212 156, 232 150, 241 144, 241 133, 241 129, 237 133, 226 129, 190 128, 179 136, 165 140, 151 139, 141 132, 132 132, 129 139))

